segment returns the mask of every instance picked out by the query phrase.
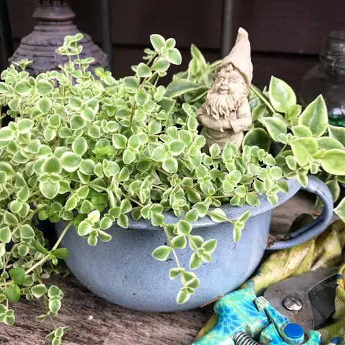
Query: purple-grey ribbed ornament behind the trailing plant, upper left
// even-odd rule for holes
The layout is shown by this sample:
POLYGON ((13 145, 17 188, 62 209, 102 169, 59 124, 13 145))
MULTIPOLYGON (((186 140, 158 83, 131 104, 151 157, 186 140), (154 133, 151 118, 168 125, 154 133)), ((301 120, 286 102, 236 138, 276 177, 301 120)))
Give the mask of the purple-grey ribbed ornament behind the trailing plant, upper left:
MULTIPOLYGON (((22 59, 32 60, 26 69, 30 75, 37 76, 48 70, 59 70, 59 65, 68 61, 68 57, 57 54, 55 50, 63 45, 63 38, 79 32, 73 24, 75 13, 71 10, 68 0, 37 0, 37 7, 32 17, 37 19, 34 30, 21 39, 19 48, 10 57, 9 61, 17 62, 22 59)), ((81 59, 95 58, 90 66, 91 71, 96 67, 107 68, 108 57, 91 39, 90 35, 83 34, 79 41, 83 46, 81 59)))

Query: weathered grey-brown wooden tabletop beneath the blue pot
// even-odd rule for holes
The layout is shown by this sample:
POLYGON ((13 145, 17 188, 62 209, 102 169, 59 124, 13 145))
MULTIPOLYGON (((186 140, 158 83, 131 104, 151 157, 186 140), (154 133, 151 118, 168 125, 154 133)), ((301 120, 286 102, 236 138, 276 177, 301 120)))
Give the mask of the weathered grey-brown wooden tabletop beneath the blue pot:
MULTIPOLYGON (((272 228, 285 232, 300 213, 313 213, 313 200, 299 195, 273 211, 272 228)), ((190 344, 210 317, 210 307, 180 313, 141 313, 110 304, 83 288, 74 277, 55 277, 63 290, 63 305, 56 322, 69 325, 63 345, 183 345, 190 344)), ((12 327, 0 326, 1 345, 46 345, 50 323, 36 322, 42 306, 21 300, 13 305, 12 327)))

